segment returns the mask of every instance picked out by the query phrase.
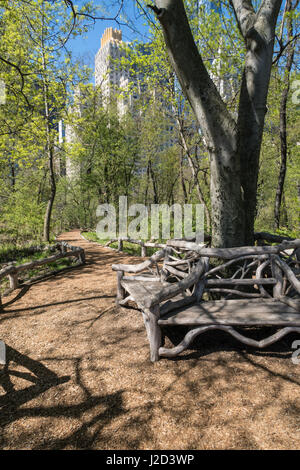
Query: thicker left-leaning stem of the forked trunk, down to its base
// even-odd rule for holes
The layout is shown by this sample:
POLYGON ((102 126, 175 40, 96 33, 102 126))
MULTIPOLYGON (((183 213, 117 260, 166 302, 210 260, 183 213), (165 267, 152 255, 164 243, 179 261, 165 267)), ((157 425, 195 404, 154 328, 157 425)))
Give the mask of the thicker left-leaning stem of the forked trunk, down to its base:
POLYGON ((243 245, 243 201, 235 122, 197 50, 183 2, 157 0, 156 6, 170 61, 201 126, 210 155, 213 245, 243 245))

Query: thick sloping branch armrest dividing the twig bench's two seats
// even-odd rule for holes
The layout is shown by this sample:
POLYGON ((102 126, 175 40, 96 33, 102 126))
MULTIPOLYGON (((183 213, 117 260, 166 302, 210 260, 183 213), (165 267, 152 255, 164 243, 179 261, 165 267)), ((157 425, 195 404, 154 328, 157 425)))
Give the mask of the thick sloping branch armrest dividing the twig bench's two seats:
POLYGON ((205 259, 200 259, 187 277, 174 284, 163 287, 157 294, 149 297, 149 299, 147 299, 147 307, 152 308, 155 305, 159 305, 164 300, 176 297, 176 295, 191 287, 193 284, 199 281, 200 276, 205 271, 205 267, 205 259))

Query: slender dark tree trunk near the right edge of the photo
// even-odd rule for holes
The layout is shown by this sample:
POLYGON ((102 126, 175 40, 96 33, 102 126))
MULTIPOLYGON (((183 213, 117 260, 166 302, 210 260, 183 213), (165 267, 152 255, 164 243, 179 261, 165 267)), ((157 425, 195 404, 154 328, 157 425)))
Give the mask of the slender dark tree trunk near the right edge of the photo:
MULTIPOLYGON (((286 11, 290 13, 292 9, 292 2, 291 0, 287 0, 286 4, 286 11)), ((292 19, 290 16, 287 17, 287 42, 291 40, 293 37, 293 24, 292 19)), ((275 196, 275 207, 274 207, 274 219, 275 219, 275 229, 280 227, 280 209, 281 209, 281 201, 283 197, 283 188, 284 188, 284 181, 286 175, 286 164, 287 164, 287 131, 286 131, 286 105, 288 99, 288 93, 290 89, 290 72, 293 65, 294 59, 294 50, 295 45, 291 42, 287 47, 287 61, 285 65, 284 71, 284 85, 283 91, 281 94, 280 100, 280 156, 281 156, 281 163, 280 163, 280 170, 278 176, 278 184, 276 189, 276 196, 275 196)))

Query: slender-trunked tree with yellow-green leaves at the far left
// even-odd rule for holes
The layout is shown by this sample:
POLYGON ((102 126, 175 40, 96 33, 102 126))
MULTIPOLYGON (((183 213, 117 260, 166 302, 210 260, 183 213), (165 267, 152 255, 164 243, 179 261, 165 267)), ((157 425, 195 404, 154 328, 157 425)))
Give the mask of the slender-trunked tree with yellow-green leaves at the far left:
POLYGON ((8 100, 0 120, 1 157, 11 167, 44 168, 47 179, 43 238, 49 241, 56 196, 57 127, 74 82, 85 70, 71 61, 66 43, 85 30, 74 22, 63 0, 5 1, 1 10, 1 66, 8 85, 8 100), (12 76, 11 76, 12 75, 12 76), (21 83, 20 83, 21 82, 21 83), (19 86, 18 86, 19 85, 19 86))

